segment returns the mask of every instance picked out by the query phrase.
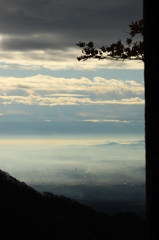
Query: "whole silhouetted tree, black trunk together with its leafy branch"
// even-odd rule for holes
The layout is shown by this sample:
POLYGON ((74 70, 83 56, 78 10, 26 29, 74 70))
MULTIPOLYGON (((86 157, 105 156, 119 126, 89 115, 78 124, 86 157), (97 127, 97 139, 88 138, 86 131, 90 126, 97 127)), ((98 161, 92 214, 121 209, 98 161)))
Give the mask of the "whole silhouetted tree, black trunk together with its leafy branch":
POLYGON ((159 111, 158 111, 158 3, 144 0, 144 18, 129 25, 130 37, 124 46, 119 40, 111 46, 94 47, 93 42, 79 42, 82 53, 77 59, 122 59, 145 62, 145 144, 146 144, 146 214, 147 240, 159 239, 159 111), (135 35, 142 41, 133 43, 135 35))

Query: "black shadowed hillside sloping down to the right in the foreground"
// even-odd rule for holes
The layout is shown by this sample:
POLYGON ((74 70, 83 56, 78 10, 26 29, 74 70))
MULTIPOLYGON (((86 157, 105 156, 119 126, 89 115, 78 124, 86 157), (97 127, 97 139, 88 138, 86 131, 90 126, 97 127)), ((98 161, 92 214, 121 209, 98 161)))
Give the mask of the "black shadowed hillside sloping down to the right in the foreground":
POLYGON ((145 221, 110 217, 64 196, 43 195, 0 170, 1 239, 142 240, 145 221))

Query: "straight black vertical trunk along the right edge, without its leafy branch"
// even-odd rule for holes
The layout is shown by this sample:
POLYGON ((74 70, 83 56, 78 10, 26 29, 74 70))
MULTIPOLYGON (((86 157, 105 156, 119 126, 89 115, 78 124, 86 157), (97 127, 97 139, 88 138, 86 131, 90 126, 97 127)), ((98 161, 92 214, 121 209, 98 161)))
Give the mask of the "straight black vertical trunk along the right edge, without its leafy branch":
POLYGON ((144 0, 147 240, 159 239, 158 2, 144 0))

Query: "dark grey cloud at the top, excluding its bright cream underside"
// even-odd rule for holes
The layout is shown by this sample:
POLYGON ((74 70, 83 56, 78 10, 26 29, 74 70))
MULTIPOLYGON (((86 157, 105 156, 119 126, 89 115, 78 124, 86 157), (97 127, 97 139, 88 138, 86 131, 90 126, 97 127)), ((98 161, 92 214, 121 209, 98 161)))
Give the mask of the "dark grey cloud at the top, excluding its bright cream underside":
POLYGON ((0 0, 1 48, 74 47, 79 40, 111 43, 142 18, 141 0, 0 0))

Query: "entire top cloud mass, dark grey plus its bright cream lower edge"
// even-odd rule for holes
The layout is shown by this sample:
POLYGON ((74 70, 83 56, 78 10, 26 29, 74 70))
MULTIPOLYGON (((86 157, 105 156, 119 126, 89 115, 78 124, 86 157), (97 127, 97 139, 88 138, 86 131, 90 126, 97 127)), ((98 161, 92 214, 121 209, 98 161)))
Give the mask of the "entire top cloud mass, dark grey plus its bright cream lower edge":
MULTIPOLYGON (((96 46, 126 39, 128 24, 142 18, 141 0, 0 0, 1 62, 49 69, 143 68, 136 63, 75 63, 75 43, 96 46)), ((3 67, 3 64, 1 67, 3 67)), ((5 66, 4 66, 5 67, 5 66)))

